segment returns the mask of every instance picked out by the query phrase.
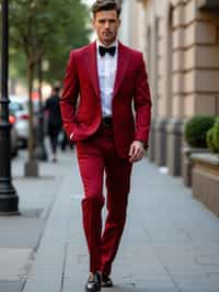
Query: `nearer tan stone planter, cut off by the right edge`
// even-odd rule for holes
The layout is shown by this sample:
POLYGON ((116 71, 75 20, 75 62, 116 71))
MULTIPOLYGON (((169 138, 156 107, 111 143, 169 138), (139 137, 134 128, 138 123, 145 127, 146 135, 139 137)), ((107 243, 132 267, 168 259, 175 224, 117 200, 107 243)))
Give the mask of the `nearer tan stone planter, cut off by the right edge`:
POLYGON ((219 216, 219 156, 194 154, 193 195, 208 210, 219 216))

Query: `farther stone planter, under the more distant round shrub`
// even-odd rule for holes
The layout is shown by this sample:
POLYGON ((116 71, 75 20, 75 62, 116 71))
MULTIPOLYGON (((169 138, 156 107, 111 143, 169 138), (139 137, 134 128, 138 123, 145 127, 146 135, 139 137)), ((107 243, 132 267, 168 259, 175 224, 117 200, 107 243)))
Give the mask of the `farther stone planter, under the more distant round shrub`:
POLYGON ((182 148, 182 177, 183 182, 186 187, 192 186, 192 177, 193 177, 193 160, 191 156, 193 154, 201 154, 201 153, 210 153, 209 149, 206 148, 193 148, 193 147, 183 147, 182 148))

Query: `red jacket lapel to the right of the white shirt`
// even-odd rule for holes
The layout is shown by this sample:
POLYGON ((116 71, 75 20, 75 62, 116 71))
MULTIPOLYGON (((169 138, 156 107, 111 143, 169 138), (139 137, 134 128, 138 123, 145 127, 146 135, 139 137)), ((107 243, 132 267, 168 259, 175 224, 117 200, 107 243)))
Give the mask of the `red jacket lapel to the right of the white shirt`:
POLYGON ((116 96, 120 87, 120 83, 126 74, 128 63, 129 63, 129 54, 125 49, 124 45, 120 42, 118 42, 118 61, 117 61, 117 70, 116 70, 113 97, 116 96))

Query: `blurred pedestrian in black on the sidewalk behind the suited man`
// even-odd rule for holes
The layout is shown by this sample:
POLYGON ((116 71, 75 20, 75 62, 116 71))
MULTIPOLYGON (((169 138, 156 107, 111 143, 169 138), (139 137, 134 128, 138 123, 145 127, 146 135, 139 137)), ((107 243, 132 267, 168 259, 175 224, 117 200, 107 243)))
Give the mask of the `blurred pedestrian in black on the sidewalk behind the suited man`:
POLYGON ((44 110, 48 113, 48 136, 50 141, 50 147, 53 153, 53 161, 57 161, 57 146, 58 146, 58 135, 61 131, 61 113, 60 113, 60 88, 53 87, 51 96, 46 100, 44 110))

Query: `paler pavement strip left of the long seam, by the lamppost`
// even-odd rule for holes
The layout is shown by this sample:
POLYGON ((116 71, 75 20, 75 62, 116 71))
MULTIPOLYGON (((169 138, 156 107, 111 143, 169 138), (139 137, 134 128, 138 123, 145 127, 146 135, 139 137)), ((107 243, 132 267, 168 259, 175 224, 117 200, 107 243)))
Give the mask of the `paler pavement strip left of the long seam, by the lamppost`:
POLYGON ((72 161, 69 158, 64 157, 60 165, 41 162, 39 178, 23 176, 25 151, 12 159, 12 184, 19 194, 21 215, 0 217, 0 292, 22 291, 45 223, 70 169, 65 168, 66 161, 72 161))

